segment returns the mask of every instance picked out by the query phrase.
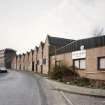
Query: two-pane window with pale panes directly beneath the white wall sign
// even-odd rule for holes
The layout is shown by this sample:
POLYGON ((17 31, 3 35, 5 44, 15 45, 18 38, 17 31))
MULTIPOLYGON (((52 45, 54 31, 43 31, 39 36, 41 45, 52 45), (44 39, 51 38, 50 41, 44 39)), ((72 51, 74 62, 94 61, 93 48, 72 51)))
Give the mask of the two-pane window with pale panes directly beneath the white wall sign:
POLYGON ((77 69, 86 69, 86 59, 75 59, 74 67, 77 69))

